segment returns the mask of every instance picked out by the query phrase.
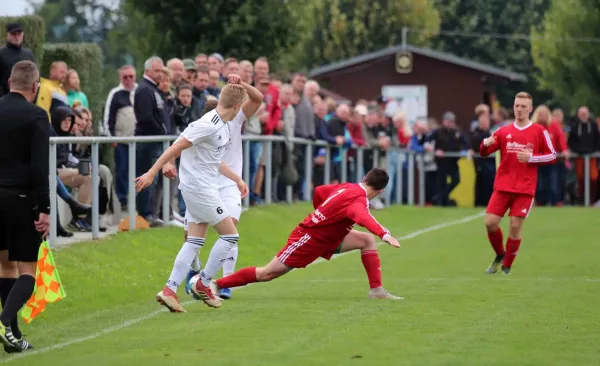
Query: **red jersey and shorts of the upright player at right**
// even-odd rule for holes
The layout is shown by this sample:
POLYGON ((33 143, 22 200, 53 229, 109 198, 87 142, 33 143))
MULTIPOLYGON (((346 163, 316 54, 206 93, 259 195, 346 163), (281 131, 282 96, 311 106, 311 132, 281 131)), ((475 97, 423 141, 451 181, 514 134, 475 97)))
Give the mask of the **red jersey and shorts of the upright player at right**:
POLYGON ((492 136, 496 139, 492 145, 486 147, 484 140, 479 147, 481 156, 500 150, 494 193, 486 212, 502 217, 510 209, 509 216, 527 217, 534 202, 538 166, 556 161, 550 135, 543 126, 530 121, 523 127, 515 123, 501 127, 492 136), (517 159, 522 149, 532 154, 528 163, 517 159))

